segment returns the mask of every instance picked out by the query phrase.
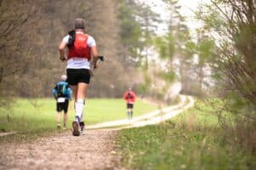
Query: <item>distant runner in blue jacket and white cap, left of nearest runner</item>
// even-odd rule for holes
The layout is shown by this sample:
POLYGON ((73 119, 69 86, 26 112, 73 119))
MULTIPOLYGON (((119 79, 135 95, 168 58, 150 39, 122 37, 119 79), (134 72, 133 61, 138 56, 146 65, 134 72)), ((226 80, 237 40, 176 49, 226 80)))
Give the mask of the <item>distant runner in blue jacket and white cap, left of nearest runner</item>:
POLYGON ((52 89, 52 94, 56 99, 56 111, 57 111, 57 127, 61 128, 61 111, 64 111, 63 116, 63 129, 67 127, 67 110, 69 99, 72 96, 72 90, 66 82, 67 76, 61 76, 61 82, 58 82, 55 85, 55 88, 52 89))

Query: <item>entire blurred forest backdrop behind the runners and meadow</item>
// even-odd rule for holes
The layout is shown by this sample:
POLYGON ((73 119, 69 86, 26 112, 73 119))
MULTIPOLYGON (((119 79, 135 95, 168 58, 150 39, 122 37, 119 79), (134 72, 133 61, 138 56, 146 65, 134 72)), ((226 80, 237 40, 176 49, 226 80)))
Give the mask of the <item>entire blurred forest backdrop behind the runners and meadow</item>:
POLYGON ((0 1, 1 99, 51 95, 66 66, 58 45, 81 17, 107 57, 92 78, 90 97, 121 97, 133 87, 138 94, 166 99, 173 82, 181 82, 184 94, 231 93, 255 105, 255 1, 202 5, 197 18, 204 26, 196 36, 178 0, 162 1, 167 20, 143 2, 0 1), (167 29, 157 34, 163 23, 167 29))

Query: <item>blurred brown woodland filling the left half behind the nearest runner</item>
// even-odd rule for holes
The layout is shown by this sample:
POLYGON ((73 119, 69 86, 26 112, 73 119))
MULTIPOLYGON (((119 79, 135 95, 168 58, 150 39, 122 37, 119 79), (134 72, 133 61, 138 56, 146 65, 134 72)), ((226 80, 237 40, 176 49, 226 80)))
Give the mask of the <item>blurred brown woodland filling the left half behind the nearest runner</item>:
POLYGON ((77 17, 86 20, 87 32, 95 37, 99 53, 107 56, 92 78, 89 95, 120 97, 131 86, 131 77, 136 80, 125 60, 113 1, 12 0, 1 1, 0 8, 2 98, 51 96, 50 89, 66 66, 59 59, 58 45, 77 17))

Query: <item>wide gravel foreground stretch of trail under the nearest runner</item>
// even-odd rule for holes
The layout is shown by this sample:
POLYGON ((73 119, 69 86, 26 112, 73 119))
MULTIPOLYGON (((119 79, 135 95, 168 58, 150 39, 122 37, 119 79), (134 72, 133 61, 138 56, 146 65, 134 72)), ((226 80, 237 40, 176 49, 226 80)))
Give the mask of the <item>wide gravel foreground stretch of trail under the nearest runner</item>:
POLYGON ((0 169, 122 169, 114 151, 115 130, 88 130, 38 139, 32 144, 1 144, 0 169))

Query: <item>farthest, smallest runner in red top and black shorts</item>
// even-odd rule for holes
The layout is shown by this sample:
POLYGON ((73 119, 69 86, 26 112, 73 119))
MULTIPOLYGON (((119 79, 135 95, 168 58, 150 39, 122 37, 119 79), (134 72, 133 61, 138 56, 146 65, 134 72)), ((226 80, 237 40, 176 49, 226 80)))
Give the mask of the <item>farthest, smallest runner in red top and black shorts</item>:
POLYGON ((131 90, 131 88, 129 88, 128 91, 125 92, 124 99, 127 106, 127 116, 128 119, 131 120, 133 115, 133 105, 136 100, 136 94, 131 90))

